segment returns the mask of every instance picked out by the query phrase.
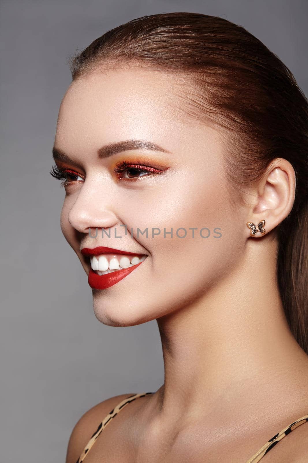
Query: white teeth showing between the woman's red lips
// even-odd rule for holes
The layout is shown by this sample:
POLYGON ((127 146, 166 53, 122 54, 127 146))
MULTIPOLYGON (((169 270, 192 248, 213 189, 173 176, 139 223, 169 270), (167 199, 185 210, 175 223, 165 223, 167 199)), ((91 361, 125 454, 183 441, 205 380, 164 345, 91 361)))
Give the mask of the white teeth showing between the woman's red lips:
POLYGON ((146 255, 134 256, 115 253, 98 254, 90 256, 91 269, 97 275, 107 275, 108 273, 116 273, 123 269, 134 267, 143 262, 146 255))

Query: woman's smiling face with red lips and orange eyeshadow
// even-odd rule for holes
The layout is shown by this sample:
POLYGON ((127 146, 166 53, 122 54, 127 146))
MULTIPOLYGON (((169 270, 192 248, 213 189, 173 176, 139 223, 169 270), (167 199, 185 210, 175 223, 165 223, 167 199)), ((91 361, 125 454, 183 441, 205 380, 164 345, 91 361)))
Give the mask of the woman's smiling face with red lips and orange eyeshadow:
MULTIPOLYGON (((83 248, 127 251, 130 260, 146 256, 115 284, 95 271, 95 281, 109 278, 104 289, 92 288, 95 315, 106 325, 138 325, 202 304, 242 255, 246 216, 231 209, 223 134, 177 117, 175 89, 173 78, 158 71, 97 70, 73 81, 61 102, 54 147, 70 161, 56 158, 56 164, 73 171, 66 177, 61 212, 66 240, 87 275, 91 263, 83 248), (135 148, 109 150, 106 156, 106 150, 99 151, 129 140, 151 142, 166 152, 135 148), (124 161, 144 170, 121 171, 124 161), (91 238, 96 227, 97 237, 91 238), (102 237, 102 228, 110 238, 102 237)), ((110 263, 113 254, 103 257, 110 263)))

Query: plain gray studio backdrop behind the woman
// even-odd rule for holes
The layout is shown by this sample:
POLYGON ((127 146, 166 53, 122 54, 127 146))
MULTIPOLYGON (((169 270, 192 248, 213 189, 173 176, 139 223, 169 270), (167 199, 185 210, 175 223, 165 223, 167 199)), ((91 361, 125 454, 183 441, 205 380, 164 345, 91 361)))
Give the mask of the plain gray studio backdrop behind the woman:
MULTIPOLYGON (((79 259, 60 230, 64 189, 49 170, 67 56, 139 16, 191 11, 244 26, 308 93, 308 2, 0 3, 0 462, 64 462, 80 416, 118 394, 163 384, 155 320, 101 324, 79 259)), ((93 430, 94 432, 94 430, 93 430)))

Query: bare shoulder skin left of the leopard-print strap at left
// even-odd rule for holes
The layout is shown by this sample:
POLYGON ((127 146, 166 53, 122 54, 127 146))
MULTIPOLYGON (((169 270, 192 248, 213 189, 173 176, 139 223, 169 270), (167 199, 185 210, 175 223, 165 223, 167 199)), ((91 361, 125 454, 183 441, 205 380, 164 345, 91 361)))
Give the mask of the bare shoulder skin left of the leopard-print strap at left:
POLYGON ((74 426, 69 438, 66 463, 76 463, 77 459, 84 450, 86 444, 91 439, 91 436, 96 431, 97 426, 108 415, 108 413, 122 400, 126 399, 131 394, 121 394, 103 400, 94 407, 85 412, 74 426))

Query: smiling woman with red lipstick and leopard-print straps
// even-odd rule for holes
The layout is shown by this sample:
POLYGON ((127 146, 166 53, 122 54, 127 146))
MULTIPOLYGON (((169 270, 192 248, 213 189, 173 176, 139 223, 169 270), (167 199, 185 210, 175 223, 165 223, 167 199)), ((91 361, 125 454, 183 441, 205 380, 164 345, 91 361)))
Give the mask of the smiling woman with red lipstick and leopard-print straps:
POLYGON ((61 229, 99 321, 157 319, 165 381, 92 407, 66 463, 306 462, 308 103, 293 75, 244 28, 184 12, 106 32, 71 70, 61 229))

